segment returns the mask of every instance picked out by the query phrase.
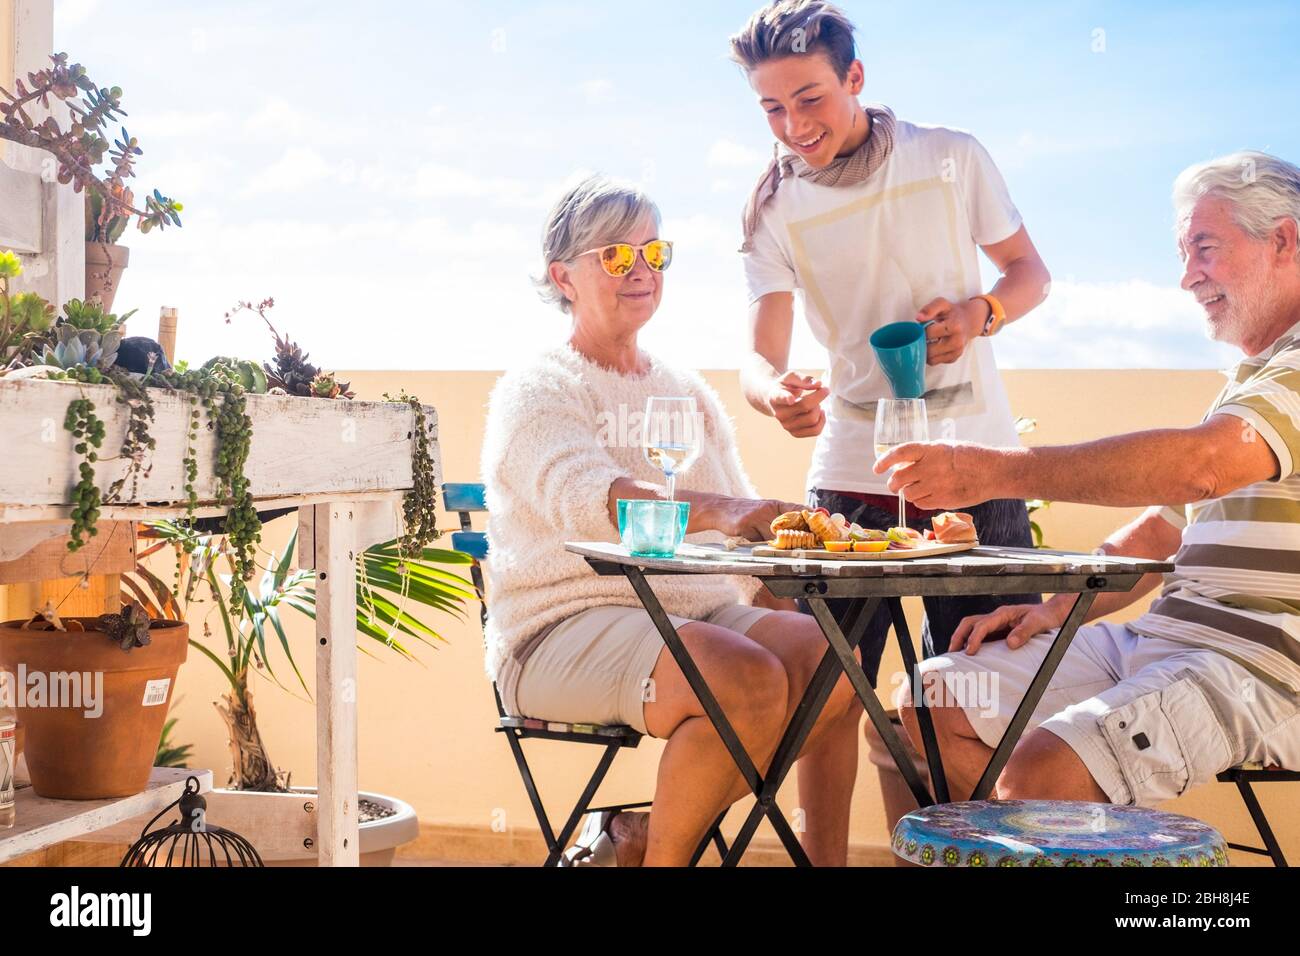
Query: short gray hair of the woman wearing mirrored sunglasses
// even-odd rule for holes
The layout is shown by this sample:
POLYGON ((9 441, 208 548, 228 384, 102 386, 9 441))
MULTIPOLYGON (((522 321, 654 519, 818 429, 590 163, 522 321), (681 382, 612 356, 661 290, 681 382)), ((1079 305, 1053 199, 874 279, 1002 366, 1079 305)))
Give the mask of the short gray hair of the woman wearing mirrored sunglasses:
POLYGON ((588 250, 623 242, 647 219, 660 224, 659 207, 638 186, 599 173, 584 176, 560 196, 542 230, 542 274, 534 281, 545 302, 569 311, 569 300, 551 281, 551 263, 568 263, 588 250))

